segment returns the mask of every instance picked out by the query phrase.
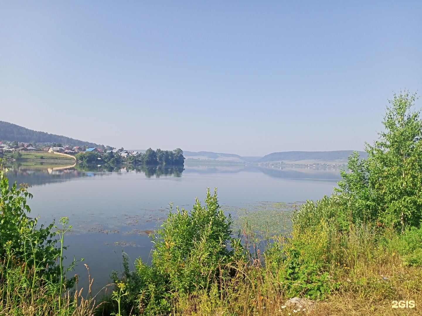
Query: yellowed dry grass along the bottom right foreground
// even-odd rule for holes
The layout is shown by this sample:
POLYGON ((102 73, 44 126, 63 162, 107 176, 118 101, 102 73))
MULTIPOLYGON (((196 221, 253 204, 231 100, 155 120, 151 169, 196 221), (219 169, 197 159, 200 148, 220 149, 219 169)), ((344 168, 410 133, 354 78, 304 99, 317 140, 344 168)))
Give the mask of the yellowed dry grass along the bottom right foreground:
MULTIPOLYGON (((368 267, 369 268, 369 267, 368 267)), ((285 306, 287 299, 283 291, 268 289, 269 284, 262 282, 260 286, 265 290, 261 293, 253 289, 250 284, 241 284, 236 292, 225 296, 221 300, 218 295, 203 295, 200 297, 179 298, 173 315, 189 316, 222 316, 222 315, 422 315, 422 269, 406 268, 400 265, 371 267, 371 270, 356 271, 355 278, 350 280, 349 286, 322 301, 316 301, 311 308, 295 310, 285 306), (382 279, 382 274, 391 275, 392 281, 383 281, 388 287, 393 287, 393 295, 383 295, 381 291, 374 291, 379 284, 376 279, 382 279), (358 281, 366 275, 373 279, 364 286, 357 287, 358 281), (375 282, 375 286, 373 284, 375 282), (414 300, 415 308, 392 308, 393 300, 414 300)), ((381 281, 380 281, 381 282, 381 281)), ((384 285, 384 284, 383 284, 384 285)), ((382 287, 378 287, 382 288, 382 287)), ((299 309, 299 308, 298 308, 299 309)), ((302 308, 303 309, 303 308, 302 308)))

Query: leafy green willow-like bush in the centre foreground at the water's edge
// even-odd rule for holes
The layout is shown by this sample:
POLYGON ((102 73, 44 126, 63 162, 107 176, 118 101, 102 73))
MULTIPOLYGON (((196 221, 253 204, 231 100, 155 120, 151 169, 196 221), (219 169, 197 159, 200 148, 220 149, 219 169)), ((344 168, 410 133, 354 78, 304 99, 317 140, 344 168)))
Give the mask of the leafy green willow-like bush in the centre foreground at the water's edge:
POLYGON ((220 209, 216 191, 208 189, 206 206, 196 199, 191 212, 176 208, 154 235, 152 265, 139 258, 129 272, 127 259, 121 279, 114 273, 115 300, 128 310, 137 306, 146 315, 168 313, 176 295, 201 292, 230 277, 227 265, 239 241, 230 237, 232 221, 220 209), (231 249, 229 249, 231 247, 231 249))

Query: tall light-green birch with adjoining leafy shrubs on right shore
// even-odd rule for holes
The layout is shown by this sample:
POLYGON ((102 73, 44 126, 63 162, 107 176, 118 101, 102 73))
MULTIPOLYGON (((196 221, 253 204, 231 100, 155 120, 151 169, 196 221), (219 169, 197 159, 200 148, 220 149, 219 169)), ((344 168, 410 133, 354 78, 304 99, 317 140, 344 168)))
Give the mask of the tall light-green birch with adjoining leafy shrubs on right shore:
POLYGON ((355 153, 339 189, 352 221, 378 226, 419 227, 422 221, 422 121, 412 112, 415 94, 404 91, 390 100, 386 131, 366 146, 368 159, 355 153))

